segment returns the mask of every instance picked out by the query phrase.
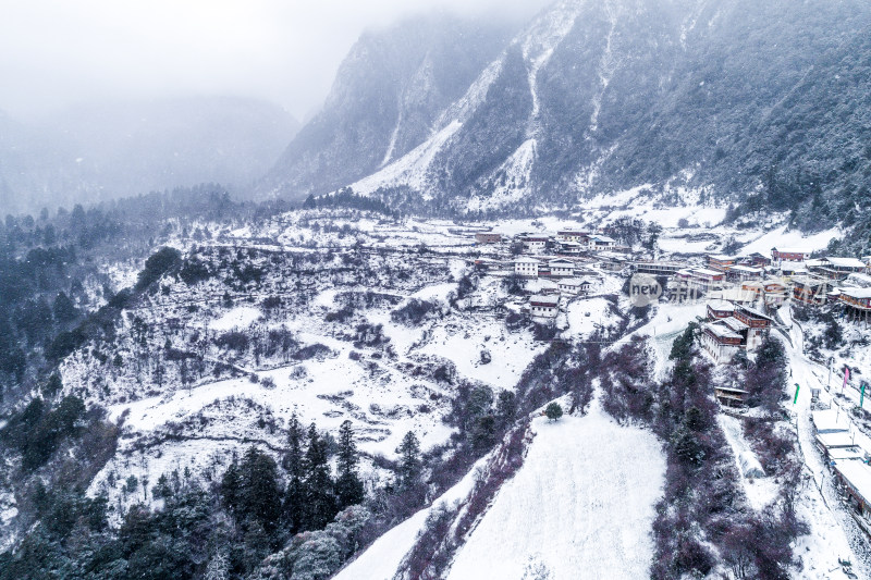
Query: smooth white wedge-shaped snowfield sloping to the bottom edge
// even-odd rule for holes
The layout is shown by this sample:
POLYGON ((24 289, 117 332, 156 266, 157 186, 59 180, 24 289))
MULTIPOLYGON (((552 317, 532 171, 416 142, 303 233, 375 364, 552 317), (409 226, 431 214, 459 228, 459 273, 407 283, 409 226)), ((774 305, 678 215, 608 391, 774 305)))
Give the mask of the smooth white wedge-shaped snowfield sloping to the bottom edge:
POLYGON ((536 419, 536 437, 447 576, 648 578, 651 526, 665 457, 650 431, 621 427, 591 405, 586 417, 536 419), (539 576, 535 576, 535 572, 539 576))

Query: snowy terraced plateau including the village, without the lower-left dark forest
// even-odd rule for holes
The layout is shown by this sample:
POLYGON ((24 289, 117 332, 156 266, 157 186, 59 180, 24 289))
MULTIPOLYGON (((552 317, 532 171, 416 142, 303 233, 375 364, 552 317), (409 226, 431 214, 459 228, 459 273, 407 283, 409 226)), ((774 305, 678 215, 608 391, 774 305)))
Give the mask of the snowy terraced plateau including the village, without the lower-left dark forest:
POLYGON ((225 486, 250 449, 286 467, 292 424, 322 433, 339 469, 349 427, 369 499, 335 517, 356 547, 323 556, 330 523, 262 573, 314 558, 343 579, 565 578, 606 558, 602 573, 635 578, 714 550, 724 573, 757 550, 792 551, 805 578, 864 573, 871 257, 829 252, 835 232, 630 208, 171 225, 145 270, 111 266, 130 288, 94 298, 116 304, 111 331, 59 368, 58 396, 118 430, 86 495, 123 528, 191 481, 225 486), (657 532, 679 526, 699 543, 657 532), (702 543, 721 526, 735 531, 702 543))

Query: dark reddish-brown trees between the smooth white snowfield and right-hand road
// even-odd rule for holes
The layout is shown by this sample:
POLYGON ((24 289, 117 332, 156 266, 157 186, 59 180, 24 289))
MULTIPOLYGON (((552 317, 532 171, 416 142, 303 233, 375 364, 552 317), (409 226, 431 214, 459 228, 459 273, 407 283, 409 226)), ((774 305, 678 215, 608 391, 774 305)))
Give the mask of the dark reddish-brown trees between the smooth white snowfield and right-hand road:
MULTIPOLYGON (((760 515, 746 504, 741 476, 717 423, 713 387, 715 380, 726 379, 724 373, 712 378, 699 356, 698 334, 698 324, 691 323, 674 341, 673 366, 662 382, 652 375, 641 341, 610 353, 602 365, 603 408, 623 422, 651 427, 667 457, 665 493, 653 523, 657 555, 651 576, 701 577, 722 563, 735 578, 788 578, 790 543, 806 530, 795 513, 790 446, 784 446, 770 422, 746 428, 766 470, 785 478, 776 503, 760 515)), ((750 403, 776 412, 786 372, 776 338, 763 342, 755 362, 739 361, 736 368, 750 391, 750 403)))

